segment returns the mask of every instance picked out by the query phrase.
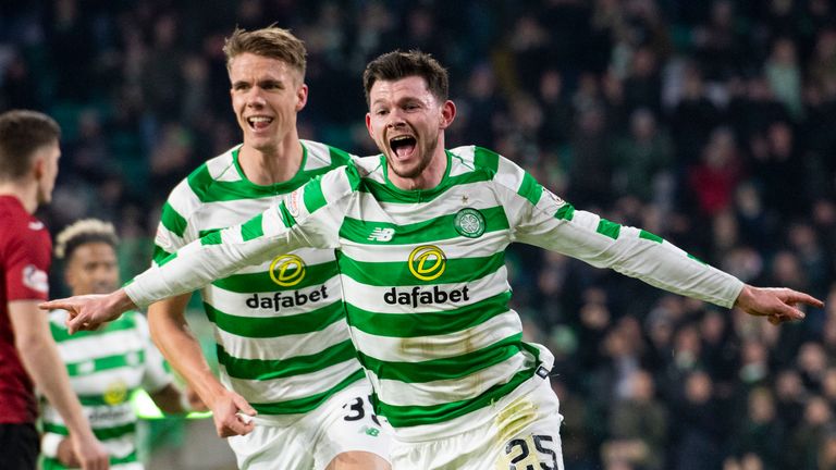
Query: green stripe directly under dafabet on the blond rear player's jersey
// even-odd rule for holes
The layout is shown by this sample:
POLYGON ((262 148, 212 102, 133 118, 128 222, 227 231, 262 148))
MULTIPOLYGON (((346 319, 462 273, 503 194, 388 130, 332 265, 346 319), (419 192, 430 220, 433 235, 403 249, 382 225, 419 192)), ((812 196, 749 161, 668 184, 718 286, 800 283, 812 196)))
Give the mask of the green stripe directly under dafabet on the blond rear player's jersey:
POLYGON ((231 316, 206 302, 204 308, 209 321, 216 326, 228 333, 249 338, 312 333, 322 331, 345 318, 345 311, 340 301, 306 313, 268 318, 231 316))

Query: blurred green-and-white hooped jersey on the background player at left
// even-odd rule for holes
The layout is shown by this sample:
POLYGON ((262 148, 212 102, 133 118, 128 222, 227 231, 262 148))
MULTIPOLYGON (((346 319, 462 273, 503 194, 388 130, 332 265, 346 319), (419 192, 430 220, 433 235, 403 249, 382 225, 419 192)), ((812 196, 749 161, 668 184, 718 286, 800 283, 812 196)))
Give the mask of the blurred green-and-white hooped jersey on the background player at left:
MULTIPOLYGON (((142 313, 128 311, 97 331, 71 336, 64 325, 66 314, 65 310, 49 312, 49 327, 93 432, 108 449, 111 469, 140 470, 131 394, 137 388, 158 392, 172 383, 151 343, 148 323, 142 313)), ((41 411, 45 438, 51 438, 50 433, 69 435, 49 401, 42 400, 41 411)), ((44 459, 45 470, 63 468, 57 459, 44 459)))

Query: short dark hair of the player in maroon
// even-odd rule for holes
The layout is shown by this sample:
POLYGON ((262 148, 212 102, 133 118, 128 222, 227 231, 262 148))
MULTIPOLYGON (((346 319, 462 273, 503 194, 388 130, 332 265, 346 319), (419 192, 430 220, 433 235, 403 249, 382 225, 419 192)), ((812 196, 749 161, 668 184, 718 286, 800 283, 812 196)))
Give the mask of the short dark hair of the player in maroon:
POLYGON ((0 114, 0 181, 24 177, 35 151, 60 138, 61 127, 44 113, 11 110, 0 114))

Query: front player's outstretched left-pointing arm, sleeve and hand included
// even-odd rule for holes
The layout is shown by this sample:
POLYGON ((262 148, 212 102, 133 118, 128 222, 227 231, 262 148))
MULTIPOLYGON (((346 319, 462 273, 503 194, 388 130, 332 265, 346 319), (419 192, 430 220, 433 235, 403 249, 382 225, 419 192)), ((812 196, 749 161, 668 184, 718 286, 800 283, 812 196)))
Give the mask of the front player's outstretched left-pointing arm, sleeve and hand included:
POLYGON ((303 247, 336 248, 345 208, 359 181, 354 165, 332 170, 249 221, 189 243, 112 294, 53 300, 40 308, 69 311, 71 333, 90 330, 125 310, 193 292, 276 255, 303 247))

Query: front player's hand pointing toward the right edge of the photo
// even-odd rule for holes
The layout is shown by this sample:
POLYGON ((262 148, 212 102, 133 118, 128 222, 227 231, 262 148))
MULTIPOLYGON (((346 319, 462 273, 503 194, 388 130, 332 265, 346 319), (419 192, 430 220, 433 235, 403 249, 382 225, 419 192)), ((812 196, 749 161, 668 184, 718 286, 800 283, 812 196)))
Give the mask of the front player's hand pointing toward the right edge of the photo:
POLYGON ((752 287, 748 284, 737 297, 735 307, 751 316, 766 317, 772 324, 780 324, 804 318, 804 312, 796 308, 798 304, 824 307, 824 302, 817 298, 790 288, 752 287))

